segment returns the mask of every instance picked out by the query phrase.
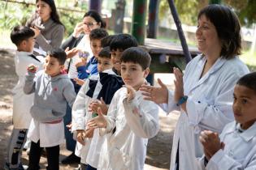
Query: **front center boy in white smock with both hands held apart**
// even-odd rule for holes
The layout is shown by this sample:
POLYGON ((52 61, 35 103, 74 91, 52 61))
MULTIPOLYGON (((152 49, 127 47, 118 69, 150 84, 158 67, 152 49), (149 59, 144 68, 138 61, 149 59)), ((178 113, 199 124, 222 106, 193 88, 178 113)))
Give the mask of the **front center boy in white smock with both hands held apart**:
POLYGON ((143 100, 138 91, 146 83, 150 61, 150 54, 141 48, 124 50, 121 77, 125 87, 115 92, 106 117, 98 108, 98 117, 87 124, 107 134, 97 169, 144 168, 147 138, 158 133, 158 105, 143 100))

